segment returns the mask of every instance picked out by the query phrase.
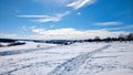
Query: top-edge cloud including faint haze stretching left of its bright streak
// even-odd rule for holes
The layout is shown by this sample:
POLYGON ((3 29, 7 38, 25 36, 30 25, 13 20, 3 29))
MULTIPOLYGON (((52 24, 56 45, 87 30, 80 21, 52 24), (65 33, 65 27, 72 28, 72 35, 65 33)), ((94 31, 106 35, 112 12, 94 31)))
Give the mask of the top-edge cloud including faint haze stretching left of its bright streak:
POLYGON ((55 4, 55 7, 70 7, 73 9, 80 9, 84 6, 93 4, 96 0, 32 0, 32 1, 47 4, 55 4))

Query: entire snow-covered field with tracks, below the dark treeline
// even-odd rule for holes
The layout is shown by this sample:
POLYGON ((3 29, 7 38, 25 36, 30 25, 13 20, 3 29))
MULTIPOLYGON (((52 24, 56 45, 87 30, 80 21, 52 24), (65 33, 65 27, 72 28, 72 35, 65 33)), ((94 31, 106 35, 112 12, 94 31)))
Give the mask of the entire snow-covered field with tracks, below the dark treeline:
POLYGON ((29 42, 0 47, 0 75, 132 75, 132 44, 29 42))

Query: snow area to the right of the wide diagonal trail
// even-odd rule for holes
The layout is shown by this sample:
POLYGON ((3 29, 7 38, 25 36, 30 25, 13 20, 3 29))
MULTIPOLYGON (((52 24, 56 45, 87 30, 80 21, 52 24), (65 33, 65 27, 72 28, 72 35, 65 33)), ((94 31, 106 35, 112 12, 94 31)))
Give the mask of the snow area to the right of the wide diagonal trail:
POLYGON ((132 43, 111 43, 111 47, 86 61, 79 75, 132 75, 132 43))

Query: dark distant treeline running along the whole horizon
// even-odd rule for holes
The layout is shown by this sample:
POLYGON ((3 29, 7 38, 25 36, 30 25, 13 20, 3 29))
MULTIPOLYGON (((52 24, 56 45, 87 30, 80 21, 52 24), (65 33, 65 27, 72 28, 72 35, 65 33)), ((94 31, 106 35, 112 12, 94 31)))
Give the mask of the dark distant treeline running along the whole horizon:
POLYGON ((94 39, 88 39, 88 40, 14 40, 14 39, 12 40, 12 39, 0 39, 0 42, 14 43, 16 41, 30 41, 30 42, 39 42, 39 43, 64 44, 64 45, 72 44, 75 42, 115 42, 115 41, 130 42, 130 41, 133 41, 133 33, 120 34, 117 38, 110 38, 109 36, 105 39, 101 39, 100 36, 95 36, 94 39))

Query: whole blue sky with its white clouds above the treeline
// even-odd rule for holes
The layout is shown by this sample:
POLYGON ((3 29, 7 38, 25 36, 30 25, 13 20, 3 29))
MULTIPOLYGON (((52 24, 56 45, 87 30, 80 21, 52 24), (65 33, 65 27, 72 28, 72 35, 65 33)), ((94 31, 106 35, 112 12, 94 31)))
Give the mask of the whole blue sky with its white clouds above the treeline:
POLYGON ((0 0, 0 38, 89 39, 133 32, 133 0, 0 0))

